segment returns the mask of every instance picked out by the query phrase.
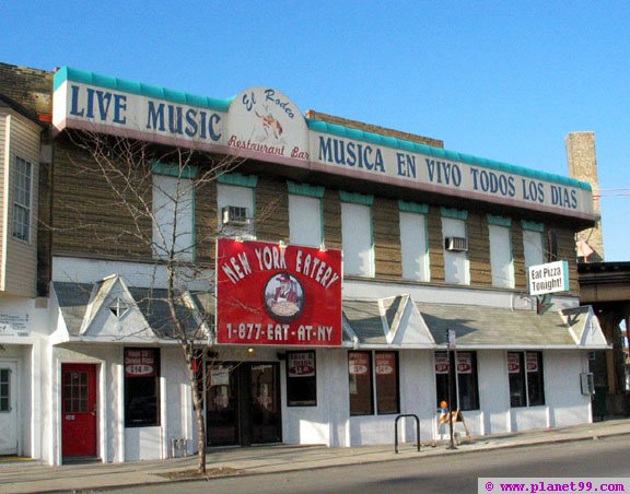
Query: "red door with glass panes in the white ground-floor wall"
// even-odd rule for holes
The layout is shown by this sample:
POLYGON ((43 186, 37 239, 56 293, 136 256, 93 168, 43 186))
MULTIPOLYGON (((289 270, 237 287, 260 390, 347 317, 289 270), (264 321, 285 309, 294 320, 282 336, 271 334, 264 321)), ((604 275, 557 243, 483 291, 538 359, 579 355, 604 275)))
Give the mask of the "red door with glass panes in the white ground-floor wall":
POLYGON ((61 365, 61 455, 96 457, 96 365, 61 365))

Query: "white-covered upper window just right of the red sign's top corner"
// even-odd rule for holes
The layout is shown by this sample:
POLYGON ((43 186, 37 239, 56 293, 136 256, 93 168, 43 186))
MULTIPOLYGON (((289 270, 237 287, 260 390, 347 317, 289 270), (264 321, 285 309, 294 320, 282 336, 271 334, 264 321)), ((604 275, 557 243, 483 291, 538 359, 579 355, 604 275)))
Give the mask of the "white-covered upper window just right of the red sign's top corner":
POLYGON ((374 239, 372 196, 339 192, 341 197, 341 244, 343 274, 373 278, 374 239))

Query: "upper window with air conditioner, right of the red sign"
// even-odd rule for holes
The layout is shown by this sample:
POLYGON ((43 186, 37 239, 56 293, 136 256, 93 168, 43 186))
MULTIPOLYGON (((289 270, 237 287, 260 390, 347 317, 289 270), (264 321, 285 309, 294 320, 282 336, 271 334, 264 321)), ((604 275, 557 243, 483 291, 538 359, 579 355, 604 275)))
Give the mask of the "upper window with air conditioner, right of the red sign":
POLYGON ((442 208, 444 281, 446 283, 470 284, 466 220, 468 220, 468 211, 442 208))

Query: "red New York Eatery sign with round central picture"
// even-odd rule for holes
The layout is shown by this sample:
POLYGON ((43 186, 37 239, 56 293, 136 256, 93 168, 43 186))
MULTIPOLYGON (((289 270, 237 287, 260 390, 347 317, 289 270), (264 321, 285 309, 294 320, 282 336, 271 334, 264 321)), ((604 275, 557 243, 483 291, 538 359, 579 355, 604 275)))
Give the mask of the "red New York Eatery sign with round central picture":
POLYGON ((217 342, 341 345, 341 251, 221 238, 217 342))

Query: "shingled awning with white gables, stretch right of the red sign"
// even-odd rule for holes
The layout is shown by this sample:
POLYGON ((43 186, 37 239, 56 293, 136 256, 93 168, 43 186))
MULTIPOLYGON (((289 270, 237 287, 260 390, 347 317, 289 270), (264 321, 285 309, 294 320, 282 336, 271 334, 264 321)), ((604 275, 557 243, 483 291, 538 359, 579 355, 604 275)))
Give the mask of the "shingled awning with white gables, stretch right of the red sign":
POLYGON ((541 316, 462 304, 420 304, 408 295, 345 299, 346 344, 355 348, 444 349, 447 330, 459 349, 608 348, 593 309, 576 307, 541 316))

